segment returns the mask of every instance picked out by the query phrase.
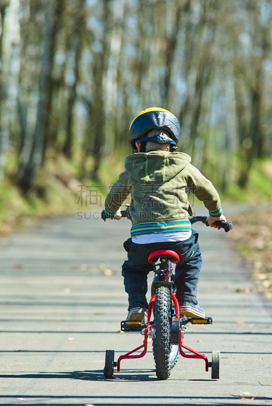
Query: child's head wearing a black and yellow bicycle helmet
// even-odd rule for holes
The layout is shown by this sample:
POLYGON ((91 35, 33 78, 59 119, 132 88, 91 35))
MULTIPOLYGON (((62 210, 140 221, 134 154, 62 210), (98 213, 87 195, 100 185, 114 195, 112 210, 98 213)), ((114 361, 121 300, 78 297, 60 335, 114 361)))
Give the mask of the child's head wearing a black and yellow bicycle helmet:
POLYGON ((141 111, 130 125, 131 150, 133 153, 150 150, 173 152, 179 134, 180 124, 172 113, 160 107, 151 107, 141 111))

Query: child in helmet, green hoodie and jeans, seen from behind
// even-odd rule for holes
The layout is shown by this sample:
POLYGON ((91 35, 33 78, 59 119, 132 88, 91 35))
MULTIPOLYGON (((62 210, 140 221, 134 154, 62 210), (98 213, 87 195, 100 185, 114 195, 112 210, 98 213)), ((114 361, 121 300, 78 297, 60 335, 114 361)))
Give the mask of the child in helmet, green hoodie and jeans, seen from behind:
POLYGON ((197 302, 202 258, 198 233, 191 229, 189 220, 193 211, 187 190, 203 201, 211 227, 219 228, 214 223, 226 218, 213 184, 190 163, 189 155, 175 152, 179 135, 179 121, 168 110, 153 107, 141 111, 129 129, 132 154, 105 199, 106 216, 119 219, 120 206, 131 194, 131 238, 124 243, 128 259, 122 267, 130 321, 144 318, 147 274, 154 266, 147 257, 160 249, 173 250, 180 257, 175 267, 180 314, 205 318, 197 302))

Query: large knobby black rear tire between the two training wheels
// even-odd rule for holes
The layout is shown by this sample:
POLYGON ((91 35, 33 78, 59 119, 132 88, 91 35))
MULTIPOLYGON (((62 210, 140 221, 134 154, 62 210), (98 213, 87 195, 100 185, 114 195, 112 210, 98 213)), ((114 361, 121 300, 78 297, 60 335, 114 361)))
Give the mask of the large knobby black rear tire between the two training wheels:
POLYGON ((156 289, 155 334, 153 337, 153 356, 156 375, 160 380, 170 377, 170 290, 161 286, 156 289))

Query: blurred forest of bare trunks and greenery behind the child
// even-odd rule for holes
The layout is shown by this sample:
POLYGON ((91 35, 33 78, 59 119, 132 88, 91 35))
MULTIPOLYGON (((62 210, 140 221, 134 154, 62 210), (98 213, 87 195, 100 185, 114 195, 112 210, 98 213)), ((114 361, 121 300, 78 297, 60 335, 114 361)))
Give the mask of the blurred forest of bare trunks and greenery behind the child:
POLYGON ((271 199, 271 0, 0 0, 0 17, 2 220, 107 191, 150 106, 223 196, 271 199))

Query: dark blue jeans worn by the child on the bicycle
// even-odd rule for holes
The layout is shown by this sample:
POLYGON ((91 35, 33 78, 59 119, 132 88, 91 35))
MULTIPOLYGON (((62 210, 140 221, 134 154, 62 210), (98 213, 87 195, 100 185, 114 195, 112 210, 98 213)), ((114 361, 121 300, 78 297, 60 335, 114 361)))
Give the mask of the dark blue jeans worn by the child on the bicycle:
POLYGON ((176 298, 180 304, 197 304, 197 285, 202 264, 198 244, 198 233, 192 230, 191 237, 186 241, 135 244, 131 238, 125 241, 124 248, 128 259, 122 267, 125 290, 129 295, 129 309, 135 302, 147 306, 147 274, 154 265, 147 262, 150 252, 155 250, 173 250, 180 261, 175 266, 176 298))

